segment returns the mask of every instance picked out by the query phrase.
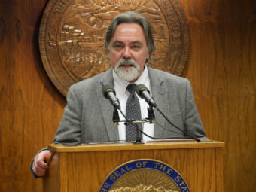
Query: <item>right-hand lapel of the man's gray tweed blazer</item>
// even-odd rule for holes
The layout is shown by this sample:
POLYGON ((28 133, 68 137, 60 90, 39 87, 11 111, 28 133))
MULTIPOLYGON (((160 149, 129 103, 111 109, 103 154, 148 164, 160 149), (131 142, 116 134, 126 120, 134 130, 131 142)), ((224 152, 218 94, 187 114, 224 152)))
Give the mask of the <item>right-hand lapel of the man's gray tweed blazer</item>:
MULTIPOLYGON (((151 94, 154 97, 155 102, 157 103, 157 108, 163 112, 163 114, 168 114, 169 112, 169 99, 168 99, 168 90, 164 87, 163 77, 158 75, 158 73, 154 72, 154 69, 148 67, 148 74, 151 81, 151 94)), ((156 138, 164 138, 163 136, 163 128, 161 126, 165 126, 166 120, 154 108, 155 121, 154 123, 154 137, 156 138)))

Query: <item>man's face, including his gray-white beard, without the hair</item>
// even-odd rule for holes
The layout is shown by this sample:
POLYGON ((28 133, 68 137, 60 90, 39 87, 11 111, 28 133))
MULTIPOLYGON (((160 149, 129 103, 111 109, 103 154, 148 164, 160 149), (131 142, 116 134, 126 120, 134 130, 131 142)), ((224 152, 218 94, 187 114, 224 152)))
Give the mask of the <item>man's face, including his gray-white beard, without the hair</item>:
POLYGON ((117 26, 109 42, 109 59, 121 79, 136 81, 142 75, 149 53, 142 26, 136 23, 117 26))

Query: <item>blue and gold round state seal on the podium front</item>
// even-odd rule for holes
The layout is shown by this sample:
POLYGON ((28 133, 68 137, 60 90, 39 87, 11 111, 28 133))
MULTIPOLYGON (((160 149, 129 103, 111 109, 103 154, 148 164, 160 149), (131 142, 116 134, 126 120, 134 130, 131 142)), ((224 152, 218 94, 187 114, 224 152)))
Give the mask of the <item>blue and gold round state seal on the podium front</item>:
POLYGON ((133 160, 114 169, 99 192, 189 192, 184 178, 159 160, 133 160))

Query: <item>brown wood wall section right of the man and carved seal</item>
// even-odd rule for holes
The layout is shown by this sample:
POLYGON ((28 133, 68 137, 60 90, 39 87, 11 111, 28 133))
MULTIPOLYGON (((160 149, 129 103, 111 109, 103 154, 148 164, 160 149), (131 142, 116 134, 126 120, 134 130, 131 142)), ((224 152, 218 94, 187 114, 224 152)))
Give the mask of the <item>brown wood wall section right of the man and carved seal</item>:
POLYGON ((224 191, 256 191, 256 2, 180 0, 190 79, 209 138, 226 142, 224 191))

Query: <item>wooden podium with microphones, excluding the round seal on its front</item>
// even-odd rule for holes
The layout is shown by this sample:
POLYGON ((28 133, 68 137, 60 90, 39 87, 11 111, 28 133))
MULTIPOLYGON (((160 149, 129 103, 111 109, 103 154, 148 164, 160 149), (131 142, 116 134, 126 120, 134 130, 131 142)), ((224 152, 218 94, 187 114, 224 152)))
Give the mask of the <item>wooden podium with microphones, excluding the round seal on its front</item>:
POLYGON ((44 178, 44 191, 97 192, 114 169, 136 159, 168 164, 184 178, 191 192, 223 191, 224 142, 49 145, 48 148, 53 153, 44 178))

